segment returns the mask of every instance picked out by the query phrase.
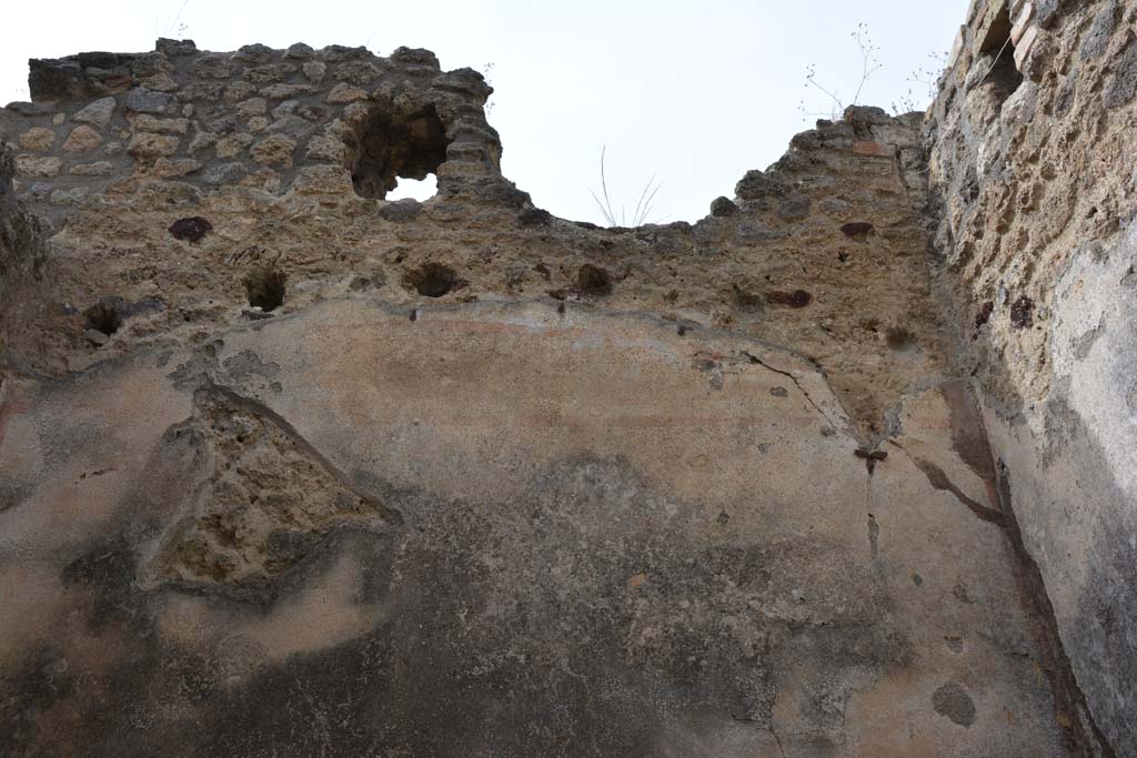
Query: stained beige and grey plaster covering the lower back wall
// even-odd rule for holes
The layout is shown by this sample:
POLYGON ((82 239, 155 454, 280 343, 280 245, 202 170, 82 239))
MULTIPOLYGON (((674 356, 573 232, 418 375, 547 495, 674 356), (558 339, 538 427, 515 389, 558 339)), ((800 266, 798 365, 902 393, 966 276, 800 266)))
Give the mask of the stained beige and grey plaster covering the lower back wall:
POLYGON ((5 402, 9 748, 1059 755, 936 390, 870 476, 782 350, 368 298, 5 402))

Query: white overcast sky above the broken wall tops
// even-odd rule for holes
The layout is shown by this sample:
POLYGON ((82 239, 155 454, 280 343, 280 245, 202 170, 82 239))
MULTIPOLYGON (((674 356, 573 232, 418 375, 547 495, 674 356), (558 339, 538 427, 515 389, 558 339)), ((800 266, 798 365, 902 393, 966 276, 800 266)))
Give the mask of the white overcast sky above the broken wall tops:
MULTIPOLYGON (((208 50, 262 42, 429 48, 445 69, 470 66, 497 92, 490 123, 503 169, 554 214, 601 222, 589 197, 607 145, 609 189, 634 206, 662 182, 648 220, 695 220, 732 195, 750 168, 828 113, 819 83, 849 98, 861 58, 849 34, 868 25, 882 68, 861 97, 890 105, 922 85, 908 77, 946 52, 966 0, 56 0, 3 10, 0 102, 27 98, 28 58, 86 50, 151 50, 184 36, 208 50), (488 64, 492 64, 488 68, 488 64)), ((620 205, 619 200, 615 205, 620 205)), ((631 208, 628 208, 631 213, 631 208)))

